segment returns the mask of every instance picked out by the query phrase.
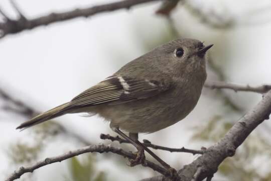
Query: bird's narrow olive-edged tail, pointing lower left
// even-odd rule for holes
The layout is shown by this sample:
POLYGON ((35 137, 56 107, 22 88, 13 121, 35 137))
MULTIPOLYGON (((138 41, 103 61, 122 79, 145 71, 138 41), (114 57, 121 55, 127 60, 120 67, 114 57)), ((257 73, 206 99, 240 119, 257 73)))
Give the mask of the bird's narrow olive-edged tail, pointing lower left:
POLYGON ((64 114, 66 114, 66 111, 64 111, 64 109, 67 108, 67 106, 69 106, 69 103, 65 103, 65 104, 60 105, 56 108, 53 108, 49 111, 46 111, 45 113, 42 113, 42 114, 32 118, 30 121, 22 123, 16 129, 27 129, 31 126, 36 125, 36 124, 40 124, 40 123, 45 122, 47 120, 64 115, 64 114))

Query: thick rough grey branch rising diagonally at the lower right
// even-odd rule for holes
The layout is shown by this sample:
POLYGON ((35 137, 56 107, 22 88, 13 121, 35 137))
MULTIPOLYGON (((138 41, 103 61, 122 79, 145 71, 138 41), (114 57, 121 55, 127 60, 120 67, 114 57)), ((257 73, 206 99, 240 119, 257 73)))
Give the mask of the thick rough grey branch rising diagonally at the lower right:
MULTIPOLYGON (((213 146, 192 163, 178 171, 182 181, 211 179, 222 161, 235 154, 236 149, 244 142, 249 134, 271 114, 271 90, 264 94, 262 100, 242 118, 240 118, 213 146)), ((155 176, 142 181, 169 180, 164 176, 155 176)))

